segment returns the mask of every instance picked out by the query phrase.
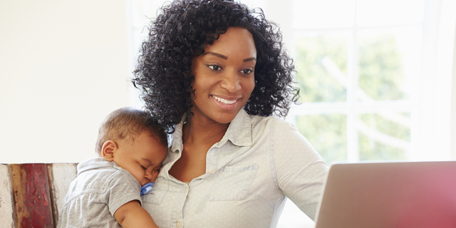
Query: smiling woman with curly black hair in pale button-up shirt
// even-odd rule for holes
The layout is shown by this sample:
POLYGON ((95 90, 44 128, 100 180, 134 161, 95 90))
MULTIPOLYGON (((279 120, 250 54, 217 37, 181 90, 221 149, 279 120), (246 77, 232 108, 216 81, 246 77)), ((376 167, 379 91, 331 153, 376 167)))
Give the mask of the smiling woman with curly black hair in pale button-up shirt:
POLYGON ((276 227, 289 197, 314 219, 326 163, 284 116, 296 98, 281 33, 243 4, 174 1, 133 83, 172 133, 143 207, 159 227, 276 227))

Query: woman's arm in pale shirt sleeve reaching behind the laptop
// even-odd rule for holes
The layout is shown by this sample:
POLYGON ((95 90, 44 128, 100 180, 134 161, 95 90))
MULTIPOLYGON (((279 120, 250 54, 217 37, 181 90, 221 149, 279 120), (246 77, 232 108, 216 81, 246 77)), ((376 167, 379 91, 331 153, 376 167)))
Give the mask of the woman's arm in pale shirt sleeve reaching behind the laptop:
POLYGON ((328 172, 326 162, 290 123, 278 121, 274 134, 274 167, 281 192, 314 219, 328 172))

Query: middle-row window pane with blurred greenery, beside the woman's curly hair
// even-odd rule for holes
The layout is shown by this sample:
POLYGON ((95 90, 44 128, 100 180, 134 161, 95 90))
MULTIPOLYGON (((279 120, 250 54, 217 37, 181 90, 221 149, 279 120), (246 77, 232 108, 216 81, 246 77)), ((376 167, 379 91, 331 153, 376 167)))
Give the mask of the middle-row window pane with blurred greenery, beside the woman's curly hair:
POLYGON ((346 100, 346 36, 308 36, 296 40, 296 75, 300 102, 346 100))

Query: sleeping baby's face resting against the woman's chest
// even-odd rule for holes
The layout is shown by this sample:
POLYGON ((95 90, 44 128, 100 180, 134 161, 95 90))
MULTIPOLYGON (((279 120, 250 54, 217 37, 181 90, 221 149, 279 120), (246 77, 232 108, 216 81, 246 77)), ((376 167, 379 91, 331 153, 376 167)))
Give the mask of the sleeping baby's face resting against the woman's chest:
POLYGON ((149 131, 143 130, 134 140, 126 138, 118 142, 114 162, 130 172, 143 186, 155 182, 166 155, 167 147, 153 138, 149 131))

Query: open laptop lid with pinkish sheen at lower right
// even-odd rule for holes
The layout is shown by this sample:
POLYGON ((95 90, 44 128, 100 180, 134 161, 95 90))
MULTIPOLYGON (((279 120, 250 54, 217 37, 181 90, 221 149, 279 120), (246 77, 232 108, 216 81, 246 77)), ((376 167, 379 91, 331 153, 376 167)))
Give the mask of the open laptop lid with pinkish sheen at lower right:
POLYGON ((456 161, 331 165, 316 228, 456 227, 456 161))

